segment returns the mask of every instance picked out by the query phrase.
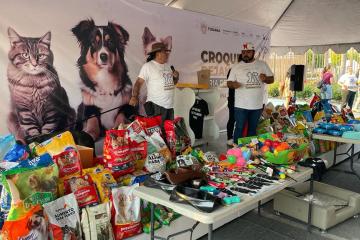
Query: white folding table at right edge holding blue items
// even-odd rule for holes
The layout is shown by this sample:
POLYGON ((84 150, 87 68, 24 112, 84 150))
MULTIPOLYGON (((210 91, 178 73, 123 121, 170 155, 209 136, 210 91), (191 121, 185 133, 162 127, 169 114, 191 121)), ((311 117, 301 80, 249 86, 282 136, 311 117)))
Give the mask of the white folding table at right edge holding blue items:
MULTIPOLYGON (((348 139, 348 138, 342 138, 342 137, 334 137, 334 136, 329 136, 329 135, 326 135, 326 134, 313 134, 312 138, 313 139, 318 139, 318 140, 335 142, 334 162, 333 162, 332 166, 338 165, 337 162, 336 162, 336 157, 337 156, 347 155, 348 159, 350 159, 350 169, 351 169, 351 171, 342 171, 342 170, 336 170, 336 171, 341 171, 341 172, 353 174, 356 177, 358 177, 358 179, 360 179, 360 175, 354 169, 354 157, 357 154, 357 153, 356 154, 354 153, 355 152, 354 151, 355 144, 360 144, 360 140, 348 139), (348 143, 348 144, 350 144, 350 148, 345 153, 337 153, 338 143, 348 143)), ((332 170, 335 170, 335 169, 332 169, 332 170)))

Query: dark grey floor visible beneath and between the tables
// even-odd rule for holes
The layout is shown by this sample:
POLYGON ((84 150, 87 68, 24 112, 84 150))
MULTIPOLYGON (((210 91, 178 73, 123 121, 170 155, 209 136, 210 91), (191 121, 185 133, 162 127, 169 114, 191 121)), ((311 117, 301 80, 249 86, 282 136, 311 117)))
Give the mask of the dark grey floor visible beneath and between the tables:
MULTIPOLYGON (((201 146, 205 151, 215 151, 223 153, 226 151, 226 133, 220 134, 220 139, 216 143, 209 143, 201 146)), ((355 168, 360 172, 360 161, 355 162, 355 168)), ((349 162, 344 162, 337 166, 338 169, 349 169, 349 162)), ((328 171, 324 177, 324 183, 345 188, 360 193, 360 180, 353 175, 328 171)), ((215 231, 215 239, 246 239, 246 240, 315 240, 315 239, 359 239, 360 240, 360 218, 351 218, 347 221, 329 229, 326 233, 321 233, 317 228, 313 228, 312 233, 306 229, 306 224, 291 219, 284 215, 274 214, 272 201, 265 204, 262 215, 257 211, 251 211, 215 231)), ((206 240, 207 236, 201 238, 206 240)))

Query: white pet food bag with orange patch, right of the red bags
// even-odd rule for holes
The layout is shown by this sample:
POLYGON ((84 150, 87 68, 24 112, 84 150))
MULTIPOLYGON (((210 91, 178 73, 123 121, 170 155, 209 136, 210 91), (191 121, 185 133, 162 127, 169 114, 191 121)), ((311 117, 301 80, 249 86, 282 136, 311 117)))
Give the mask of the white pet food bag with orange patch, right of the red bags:
POLYGON ((171 161, 171 153, 159 133, 146 137, 147 157, 145 168, 149 172, 164 172, 166 163, 171 161))

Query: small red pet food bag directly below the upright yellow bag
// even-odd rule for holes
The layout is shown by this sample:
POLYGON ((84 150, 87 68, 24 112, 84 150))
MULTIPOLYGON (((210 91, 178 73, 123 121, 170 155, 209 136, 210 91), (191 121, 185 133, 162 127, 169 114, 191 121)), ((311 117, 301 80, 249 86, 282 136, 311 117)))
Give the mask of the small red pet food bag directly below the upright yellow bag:
POLYGON ((60 154, 54 155, 53 160, 59 167, 60 178, 75 174, 81 175, 81 161, 79 153, 75 149, 65 150, 60 154))

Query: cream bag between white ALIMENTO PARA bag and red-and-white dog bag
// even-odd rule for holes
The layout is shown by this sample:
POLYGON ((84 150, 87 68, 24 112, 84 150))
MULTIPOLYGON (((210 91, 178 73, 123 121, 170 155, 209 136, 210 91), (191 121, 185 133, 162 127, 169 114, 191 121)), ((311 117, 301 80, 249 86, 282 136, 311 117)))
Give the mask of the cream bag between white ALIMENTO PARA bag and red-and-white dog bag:
POLYGON ((82 210, 81 226, 85 240, 113 240, 110 203, 82 210))

